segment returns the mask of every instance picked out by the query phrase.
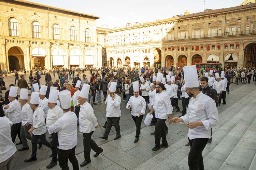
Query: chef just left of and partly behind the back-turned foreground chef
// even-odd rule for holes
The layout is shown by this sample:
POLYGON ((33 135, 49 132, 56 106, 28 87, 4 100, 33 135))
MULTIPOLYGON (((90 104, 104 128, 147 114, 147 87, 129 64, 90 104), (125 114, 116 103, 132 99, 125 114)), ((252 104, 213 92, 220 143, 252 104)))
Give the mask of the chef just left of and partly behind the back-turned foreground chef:
POLYGON ((62 109, 57 106, 58 101, 58 90, 50 90, 49 99, 48 99, 48 113, 46 118, 46 127, 48 129, 49 134, 52 135, 51 140, 51 149, 52 149, 52 160, 49 165, 46 166, 47 169, 50 169, 57 165, 57 155, 58 155, 58 133, 51 133, 49 131, 49 127, 53 125, 59 118, 63 116, 62 109))

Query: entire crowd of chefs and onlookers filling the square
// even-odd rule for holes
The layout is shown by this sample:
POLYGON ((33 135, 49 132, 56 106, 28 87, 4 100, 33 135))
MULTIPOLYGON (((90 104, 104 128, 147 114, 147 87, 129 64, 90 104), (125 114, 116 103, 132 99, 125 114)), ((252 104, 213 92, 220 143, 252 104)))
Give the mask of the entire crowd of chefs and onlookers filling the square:
MULTIPOLYGON (((189 128, 186 143, 186 146, 190 146, 188 165, 192 169, 203 169, 202 151, 212 141, 211 128, 218 123, 217 107, 226 104, 226 93, 229 94, 234 77, 236 83, 240 77, 241 83, 244 83, 245 78, 250 83, 252 75, 253 81, 256 79, 255 69, 211 69, 209 73, 207 70, 197 70, 195 66, 168 69, 169 72, 166 68, 133 68, 127 71, 123 68, 88 68, 90 79, 87 79, 86 74, 80 78, 81 72, 84 72, 80 68, 54 69, 54 78, 57 73, 54 82, 50 72, 45 72, 44 82, 40 71, 35 75, 30 71, 29 82, 25 80, 25 75, 19 77, 16 72, 15 82, 5 92, 5 99, 0 96, 0 136, 3 139, 0 147, 4 148, 0 169, 10 168, 16 152, 16 136, 19 138, 16 145, 22 145, 18 151, 29 150, 27 140, 31 140, 32 153, 25 162, 37 160, 37 148, 45 145, 52 151, 52 160, 47 169, 57 165, 57 157, 60 168, 68 169, 69 160, 74 170, 79 169, 75 157, 77 126, 84 138, 84 161, 80 166, 86 166, 91 162, 91 149, 96 152, 94 157, 103 152, 91 138, 95 129, 99 128, 93 107, 103 102, 106 104, 106 122, 102 126, 105 132, 101 139, 108 139, 112 126, 116 131, 114 139, 121 137, 120 104, 125 102, 136 126, 134 143, 139 141, 141 123, 147 111, 153 115, 150 125, 155 126, 155 131, 151 133, 155 137, 153 151, 169 146, 166 119, 168 123, 184 123, 189 128), (75 69, 78 72, 76 76, 75 69), (19 101, 16 80, 20 89, 19 101), (28 90, 32 92, 29 101, 28 90), (182 101, 182 109, 179 100, 182 101), (174 111, 181 115, 172 118, 174 111), (47 132, 51 142, 46 140, 47 132)), ((0 89, 4 90, 3 77, 0 82, 0 89)))

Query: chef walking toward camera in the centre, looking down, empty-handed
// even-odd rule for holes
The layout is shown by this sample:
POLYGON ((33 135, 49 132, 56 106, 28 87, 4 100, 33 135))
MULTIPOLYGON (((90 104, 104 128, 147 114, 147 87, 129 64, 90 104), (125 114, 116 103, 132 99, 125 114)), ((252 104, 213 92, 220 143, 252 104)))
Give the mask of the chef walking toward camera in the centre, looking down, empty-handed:
POLYGON ((136 143, 139 141, 141 122, 146 110, 146 101, 139 95, 139 82, 132 82, 132 86, 134 96, 130 97, 126 109, 130 109, 131 107, 131 117, 136 125, 136 135, 134 140, 134 143, 136 143))

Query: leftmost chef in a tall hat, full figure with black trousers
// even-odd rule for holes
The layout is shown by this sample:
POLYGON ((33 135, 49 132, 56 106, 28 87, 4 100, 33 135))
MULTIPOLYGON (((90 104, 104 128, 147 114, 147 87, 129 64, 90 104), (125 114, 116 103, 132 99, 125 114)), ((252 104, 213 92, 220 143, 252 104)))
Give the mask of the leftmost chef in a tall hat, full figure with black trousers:
POLYGON ((15 142, 16 136, 18 135, 19 143, 16 145, 22 144, 22 139, 20 137, 20 127, 22 125, 22 111, 20 107, 20 103, 16 99, 18 87, 11 86, 8 100, 10 103, 3 107, 4 112, 8 113, 9 120, 12 121, 12 128, 11 128, 11 136, 12 142, 15 142))

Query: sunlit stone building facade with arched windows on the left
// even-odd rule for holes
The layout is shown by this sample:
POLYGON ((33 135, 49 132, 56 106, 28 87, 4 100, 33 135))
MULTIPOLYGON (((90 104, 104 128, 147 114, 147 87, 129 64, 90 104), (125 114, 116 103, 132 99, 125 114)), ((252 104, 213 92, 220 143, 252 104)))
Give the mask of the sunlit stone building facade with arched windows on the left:
POLYGON ((98 18, 24 0, 0 0, 1 69, 101 67, 98 18))

